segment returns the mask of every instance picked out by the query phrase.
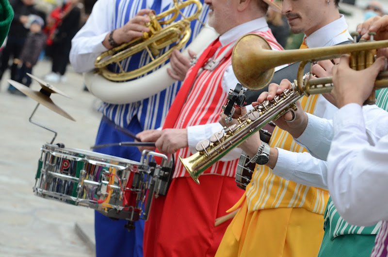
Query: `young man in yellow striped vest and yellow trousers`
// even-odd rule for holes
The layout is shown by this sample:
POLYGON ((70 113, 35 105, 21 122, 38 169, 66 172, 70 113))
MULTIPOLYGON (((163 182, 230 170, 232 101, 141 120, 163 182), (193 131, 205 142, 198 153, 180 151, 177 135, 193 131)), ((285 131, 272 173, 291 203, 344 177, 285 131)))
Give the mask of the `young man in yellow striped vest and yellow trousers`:
MULTIPOLYGON (((339 15, 338 2, 283 0, 282 13, 288 19, 291 32, 305 33, 301 48, 332 46, 348 41, 350 34, 344 17, 339 15)), ((336 110, 323 96, 303 97, 299 108, 325 118, 331 118, 336 110)), ((323 167, 311 155, 295 160, 292 153, 288 154, 288 151, 300 153, 306 149, 296 145, 292 136, 278 127, 269 146, 260 148, 268 159, 263 158, 259 163, 266 165, 257 166, 245 195, 230 209, 241 206, 226 230, 217 256, 318 254, 328 192, 319 188, 320 184, 307 187, 276 175, 280 176, 280 170, 313 173, 323 167), (267 238, 271 241, 264 240, 267 238)), ((250 157, 259 152, 258 145, 256 147, 255 153, 248 154, 250 157)))

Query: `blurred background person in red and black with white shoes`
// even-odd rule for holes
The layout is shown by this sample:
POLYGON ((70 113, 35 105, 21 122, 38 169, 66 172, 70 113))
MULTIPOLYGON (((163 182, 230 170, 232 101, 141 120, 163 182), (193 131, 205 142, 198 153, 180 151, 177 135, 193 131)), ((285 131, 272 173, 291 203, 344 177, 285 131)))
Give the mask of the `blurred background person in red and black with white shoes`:
POLYGON ((52 59, 51 73, 45 76, 50 82, 66 82, 65 72, 69 63, 71 39, 80 29, 81 9, 79 0, 65 0, 48 17, 49 34, 47 45, 52 59))

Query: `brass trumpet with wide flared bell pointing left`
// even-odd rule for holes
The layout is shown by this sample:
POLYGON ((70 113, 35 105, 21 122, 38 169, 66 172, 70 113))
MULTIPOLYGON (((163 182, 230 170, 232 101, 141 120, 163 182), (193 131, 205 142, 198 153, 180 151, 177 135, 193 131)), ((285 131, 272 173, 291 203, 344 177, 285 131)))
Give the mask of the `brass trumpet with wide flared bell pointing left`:
MULTIPOLYGON (((334 59, 347 53, 351 54, 353 69, 364 69, 374 62, 376 49, 388 47, 388 40, 284 51, 273 51, 267 48, 267 44, 265 38, 252 33, 242 36, 234 46, 233 71, 244 87, 252 90, 264 88, 271 81, 274 68, 283 64, 334 59)), ((301 81, 302 78, 298 78, 298 87, 303 86, 301 81)))

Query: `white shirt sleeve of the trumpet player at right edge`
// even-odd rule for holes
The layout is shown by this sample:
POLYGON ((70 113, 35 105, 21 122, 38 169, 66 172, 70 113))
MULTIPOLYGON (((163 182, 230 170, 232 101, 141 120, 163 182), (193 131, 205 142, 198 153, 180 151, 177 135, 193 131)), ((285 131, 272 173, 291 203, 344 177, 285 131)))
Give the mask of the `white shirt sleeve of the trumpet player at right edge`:
POLYGON ((327 177, 339 214, 353 225, 388 220, 388 112, 375 116, 373 128, 383 136, 374 135, 374 144, 368 142, 371 127, 359 105, 342 107, 333 121, 327 177))

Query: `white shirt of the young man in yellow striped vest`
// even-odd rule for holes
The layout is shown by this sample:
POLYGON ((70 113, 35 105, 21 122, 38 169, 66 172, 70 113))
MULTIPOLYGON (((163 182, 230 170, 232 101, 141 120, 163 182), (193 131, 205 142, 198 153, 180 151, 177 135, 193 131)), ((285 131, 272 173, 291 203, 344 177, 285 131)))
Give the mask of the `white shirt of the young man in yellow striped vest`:
MULTIPOLYGON (((341 15, 339 19, 311 33, 306 37, 305 42, 308 48, 337 45, 351 40, 347 28, 345 18, 341 15)), ((329 103, 323 96, 319 96, 313 114, 321 118, 332 119, 337 110, 338 108, 329 103)), ((316 135, 314 134, 314 137, 316 135)), ((300 184, 327 188, 326 177, 322 176, 327 169, 324 162, 316 160, 308 153, 294 153, 281 148, 277 148, 277 150, 279 154, 272 170, 275 175, 300 184)))

